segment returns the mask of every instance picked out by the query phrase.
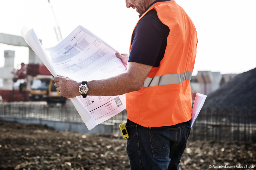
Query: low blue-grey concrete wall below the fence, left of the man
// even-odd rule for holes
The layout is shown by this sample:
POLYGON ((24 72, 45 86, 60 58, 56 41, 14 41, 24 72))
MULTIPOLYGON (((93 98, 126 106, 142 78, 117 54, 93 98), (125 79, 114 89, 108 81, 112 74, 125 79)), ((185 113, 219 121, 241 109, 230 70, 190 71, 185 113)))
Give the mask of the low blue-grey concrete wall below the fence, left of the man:
POLYGON ((112 133, 113 126, 99 124, 91 130, 88 130, 84 123, 79 122, 58 122, 58 121, 49 121, 41 119, 20 119, 20 118, 9 118, 9 117, 0 117, 0 119, 9 122, 18 122, 18 123, 33 123, 33 124, 42 124, 47 125, 48 127, 53 127, 56 130, 68 130, 71 132, 80 132, 80 133, 101 133, 107 134, 112 133))

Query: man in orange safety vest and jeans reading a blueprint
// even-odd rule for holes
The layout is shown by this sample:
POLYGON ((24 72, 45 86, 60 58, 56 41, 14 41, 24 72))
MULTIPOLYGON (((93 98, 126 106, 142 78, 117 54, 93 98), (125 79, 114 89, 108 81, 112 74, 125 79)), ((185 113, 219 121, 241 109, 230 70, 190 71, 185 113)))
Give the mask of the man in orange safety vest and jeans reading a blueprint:
POLYGON ((126 7, 140 14, 129 55, 116 54, 127 71, 88 82, 57 76, 55 86, 67 98, 81 95, 81 83, 86 95, 126 93, 131 169, 179 169, 191 130, 197 32, 174 0, 126 0, 126 7))

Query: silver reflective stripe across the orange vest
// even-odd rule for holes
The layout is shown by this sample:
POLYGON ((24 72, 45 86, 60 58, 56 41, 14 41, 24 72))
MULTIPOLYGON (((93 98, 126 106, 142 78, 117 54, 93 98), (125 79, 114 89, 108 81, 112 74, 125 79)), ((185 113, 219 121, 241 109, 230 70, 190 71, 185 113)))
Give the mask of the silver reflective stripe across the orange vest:
POLYGON ((162 76, 155 76, 153 78, 147 77, 143 83, 143 87, 154 87, 167 84, 181 84, 184 80, 190 80, 193 71, 185 71, 179 74, 165 74, 162 76))

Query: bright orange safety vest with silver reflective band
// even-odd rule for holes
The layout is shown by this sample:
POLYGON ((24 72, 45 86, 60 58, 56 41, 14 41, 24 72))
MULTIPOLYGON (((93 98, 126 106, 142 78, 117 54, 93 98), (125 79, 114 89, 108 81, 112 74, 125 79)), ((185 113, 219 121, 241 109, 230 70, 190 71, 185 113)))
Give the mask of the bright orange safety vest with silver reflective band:
POLYGON ((151 69, 139 91, 126 93, 127 117, 144 127, 170 126, 191 119, 190 79, 197 32, 192 20, 174 0, 153 4, 140 19, 151 9, 156 10, 170 33, 160 66, 151 69))

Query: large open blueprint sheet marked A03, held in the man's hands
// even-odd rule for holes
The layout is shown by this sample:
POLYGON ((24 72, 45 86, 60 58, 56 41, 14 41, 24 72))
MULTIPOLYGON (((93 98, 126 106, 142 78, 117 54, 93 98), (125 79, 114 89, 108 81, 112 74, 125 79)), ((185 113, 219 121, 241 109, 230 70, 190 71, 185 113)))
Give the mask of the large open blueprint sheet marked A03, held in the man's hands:
MULTIPOLYGON (((126 71, 126 66, 115 55, 117 51, 81 25, 63 41, 46 50, 33 29, 23 28, 21 33, 53 76, 58 74, 76 81, 90 81, 126 71)), ((126 108, 125 94, 79 96, 71 101, 89 130, 126 108)))

